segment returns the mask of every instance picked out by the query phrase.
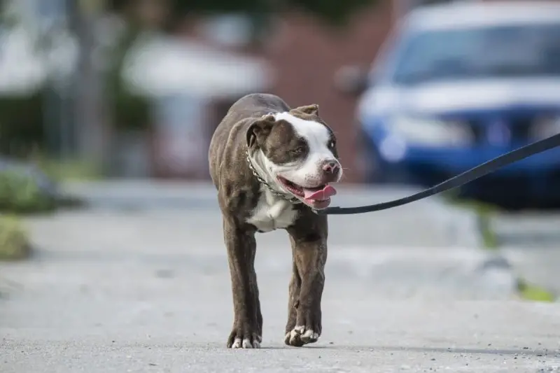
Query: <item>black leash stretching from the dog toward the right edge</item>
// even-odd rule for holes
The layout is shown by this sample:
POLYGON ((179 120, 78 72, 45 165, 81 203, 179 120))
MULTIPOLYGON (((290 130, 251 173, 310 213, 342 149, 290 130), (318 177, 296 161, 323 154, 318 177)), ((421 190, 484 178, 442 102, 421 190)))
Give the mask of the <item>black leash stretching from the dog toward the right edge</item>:
POLYGON ((414 195, 409 195, 400 199, 394 199, 393 201, 381 202, 379 204, 370 204, 368 206, 328 207, 323 210, 318 210, 316 211, 316 213, 328 215, 349 215, 353 213, 369 213, 373 211, 393 209, 393 207, 416 202, 420 199, 437 195, 437 193, 445 192, 446 190, 465 185, 466 183, 470 183, 471 181, 481 176, 496 171, 496 169, 499 169, 500 167, 507 166, 507 164, 523 160, 526 157, 545 152, 546 150, 556 148, 557 146, 560 146, 560 134, 555 134, 548 137, 547 139, 535 141, 534 143, 522 146, 521 148, 512 150, 509 153, 505 153, 504 155, 500 155, 493 160, 489 160, 487 162, 479 164, 477 167, 473 167, 472 169, 469 169, 462 174, 458 174, 457 176, 449 178, 442 183, 434 185, 432 188, 422 190, 421 192, 418 192, 414 195))

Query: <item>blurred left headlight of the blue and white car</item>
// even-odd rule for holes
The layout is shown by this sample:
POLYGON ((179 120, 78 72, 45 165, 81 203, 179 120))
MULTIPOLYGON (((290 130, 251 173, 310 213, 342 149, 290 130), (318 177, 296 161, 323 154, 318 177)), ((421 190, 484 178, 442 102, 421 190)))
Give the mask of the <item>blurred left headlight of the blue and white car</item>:
POLYGON ((388 128, 408 143, 430 146, 466 146, 474 140, 467 125, 432 118, 398 115, 388 121, 388 128))

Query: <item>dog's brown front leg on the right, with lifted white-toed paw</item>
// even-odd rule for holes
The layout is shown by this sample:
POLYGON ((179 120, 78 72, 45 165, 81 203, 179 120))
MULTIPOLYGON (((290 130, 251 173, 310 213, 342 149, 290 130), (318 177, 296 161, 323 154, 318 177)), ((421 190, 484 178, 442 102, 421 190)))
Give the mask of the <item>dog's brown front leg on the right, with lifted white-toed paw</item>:
POLYGON ((303 346, 321 336, 321 297, 327 260, 326 232, 288 230, 293 253, 288 323, 284 342, 303 346))

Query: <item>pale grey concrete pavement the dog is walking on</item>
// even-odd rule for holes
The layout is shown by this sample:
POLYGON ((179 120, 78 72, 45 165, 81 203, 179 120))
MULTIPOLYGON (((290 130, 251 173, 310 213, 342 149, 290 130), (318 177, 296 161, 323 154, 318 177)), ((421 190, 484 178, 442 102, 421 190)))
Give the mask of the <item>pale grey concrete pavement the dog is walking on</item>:
POLYGON ((156 202, 129 185, 120 204, 82 189, 97 209, 28 220, 36 256, 0 265, 0 372, 559 371, 560 304, 514 300, 509 272, 428 202, 330 220, 323 335, 304 348, 282 342, 287 238, 260 235, 262 349, 228 350, 219 213, 172 189, 156 202))

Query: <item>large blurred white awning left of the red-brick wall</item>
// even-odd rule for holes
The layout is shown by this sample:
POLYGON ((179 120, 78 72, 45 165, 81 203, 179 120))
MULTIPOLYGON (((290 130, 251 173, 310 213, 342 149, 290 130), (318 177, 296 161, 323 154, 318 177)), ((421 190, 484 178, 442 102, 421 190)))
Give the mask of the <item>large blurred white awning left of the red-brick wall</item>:
POLYGON ((267 90, 272 82, 272 71, 262 60, 169 36, 139 40, 123 66, 125 83, 148 96, 230 97, 267 90))

